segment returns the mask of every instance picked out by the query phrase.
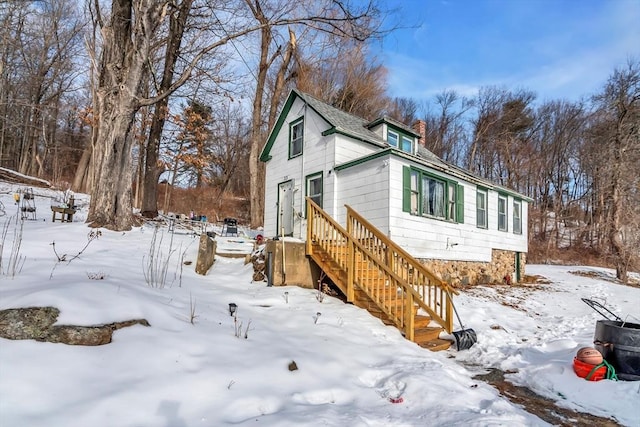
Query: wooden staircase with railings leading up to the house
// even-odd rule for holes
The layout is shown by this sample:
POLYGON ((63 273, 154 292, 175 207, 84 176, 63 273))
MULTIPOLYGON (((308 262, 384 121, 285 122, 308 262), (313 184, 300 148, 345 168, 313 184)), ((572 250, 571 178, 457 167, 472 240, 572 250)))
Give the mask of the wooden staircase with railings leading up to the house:
POLYGON ((457 293, 357 212, 347 208, 344 229, 307 198, 307 255, 348 302, 393 325, 410 341, 445 350, 453 330, 451 295, 457 293))

